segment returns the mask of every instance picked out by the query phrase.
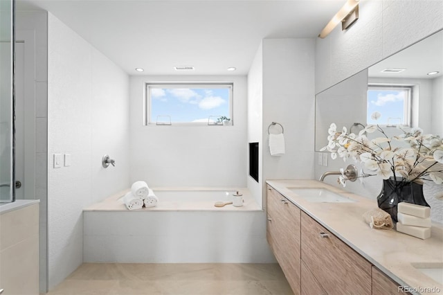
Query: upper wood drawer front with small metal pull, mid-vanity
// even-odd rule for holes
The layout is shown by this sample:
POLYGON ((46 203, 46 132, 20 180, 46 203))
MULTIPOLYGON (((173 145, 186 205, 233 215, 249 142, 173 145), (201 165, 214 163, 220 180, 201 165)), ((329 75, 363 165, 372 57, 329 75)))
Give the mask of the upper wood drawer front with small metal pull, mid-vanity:
POLYGON ((306 213, 301 222, 301 258, 327 294, 371 294, 368 260, 306 213))

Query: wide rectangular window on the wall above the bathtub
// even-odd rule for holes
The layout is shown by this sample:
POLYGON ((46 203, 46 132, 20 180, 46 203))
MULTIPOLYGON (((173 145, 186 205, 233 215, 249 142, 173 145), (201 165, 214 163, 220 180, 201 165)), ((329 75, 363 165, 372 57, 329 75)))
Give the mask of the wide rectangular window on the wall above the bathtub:
POLYGON ((221 125, 233 120, 233 84, 146 84, 146 124, 221 125))

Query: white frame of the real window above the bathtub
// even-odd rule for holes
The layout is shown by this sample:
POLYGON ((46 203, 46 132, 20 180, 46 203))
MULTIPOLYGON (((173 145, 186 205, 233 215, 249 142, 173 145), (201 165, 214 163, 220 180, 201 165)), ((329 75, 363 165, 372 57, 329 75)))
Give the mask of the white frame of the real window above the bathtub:
MULTIPOLYGON (((185 81, 185 82, 145 82, 145 105, 143 106, 143 124, 145 126, 219 126, 223 124, 210 124, 209 118, 207 122, 171 122, 170 124, 158 124, 156 118, 152 118, 151 114, 151 91, 152 88, 162 88, 162 89, 211 89, 211 88, 227 88, 229 93, 228 98, 228 108, 229 108, 229 118, 231 125, 233 125, 233 96, 234 96, 234 83, 233 82, 213 82, 213 81, 185 81)), ((165 114, 165 116, 168 116, 165 114)), ((211 116, 224 116, 214 114, 211 116)))

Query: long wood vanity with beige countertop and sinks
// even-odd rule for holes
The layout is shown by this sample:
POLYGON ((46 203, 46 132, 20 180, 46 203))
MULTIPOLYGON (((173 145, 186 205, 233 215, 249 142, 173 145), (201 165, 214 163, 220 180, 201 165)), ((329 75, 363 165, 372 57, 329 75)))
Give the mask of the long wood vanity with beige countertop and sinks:
POLYGON ((370 229, 374 200, 315 180, 266 184, 266 238, 294 294, 443 293, 441 226, 427 240, 370 229))

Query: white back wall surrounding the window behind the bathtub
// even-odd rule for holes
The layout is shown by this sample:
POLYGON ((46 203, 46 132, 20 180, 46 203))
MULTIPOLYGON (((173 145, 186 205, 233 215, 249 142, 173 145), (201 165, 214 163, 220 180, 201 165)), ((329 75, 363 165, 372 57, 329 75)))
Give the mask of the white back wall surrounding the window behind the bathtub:
POLYGON ((149 186, 246 186, 246 77, 133 76, 131 182, 149 186), (233 82, 232 126, 143 126, 143 89, 154 81, 233 82))

